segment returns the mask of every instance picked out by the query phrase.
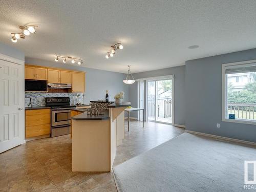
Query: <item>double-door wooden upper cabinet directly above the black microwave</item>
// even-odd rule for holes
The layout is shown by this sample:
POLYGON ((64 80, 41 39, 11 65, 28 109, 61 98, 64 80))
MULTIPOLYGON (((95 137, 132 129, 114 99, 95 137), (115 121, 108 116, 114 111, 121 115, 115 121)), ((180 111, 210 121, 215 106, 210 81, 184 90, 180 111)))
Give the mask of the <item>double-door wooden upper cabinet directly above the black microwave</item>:
POLYGON ((25 66, 25 79, 47 80, 47 68, 25 66))

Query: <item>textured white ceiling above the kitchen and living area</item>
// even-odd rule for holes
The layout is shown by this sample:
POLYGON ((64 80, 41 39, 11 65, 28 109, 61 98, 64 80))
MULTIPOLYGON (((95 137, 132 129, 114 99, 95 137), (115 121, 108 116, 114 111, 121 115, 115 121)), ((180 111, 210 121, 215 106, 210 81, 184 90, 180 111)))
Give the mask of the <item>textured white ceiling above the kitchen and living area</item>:
MULTIPOLYGON (((132 73, 256 46, 256 1, 12 1, 0 3, 0 41, 26 57, 79 57, 83 66, 132 73), (11 42, 18 26, 36 34, 11 42), (115 42, 123 50, 106 59, 115 42), (198 49, 188 49, 199 45, 198 49)), ((74 65, 66 64, 63 65, 74 65)))

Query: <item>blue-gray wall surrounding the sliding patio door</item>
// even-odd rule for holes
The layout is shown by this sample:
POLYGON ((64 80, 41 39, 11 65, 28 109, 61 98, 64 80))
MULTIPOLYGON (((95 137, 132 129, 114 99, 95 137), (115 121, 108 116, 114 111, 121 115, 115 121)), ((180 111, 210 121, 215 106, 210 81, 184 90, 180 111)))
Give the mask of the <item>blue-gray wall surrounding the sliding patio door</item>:
MULTIPOLYGON (((174 122, 175 124, 185 125, 185 66, 160 69, 155 71, 147 71, 133 74, 134 79, 157 77, 163 75, 173 75, 174 79, 174 122)), ((130 100, 132 106, 137 107, 138 87, 137 81, 130 86, 130 100)), ((137 118, 137 113, 131 114, 137 118)))

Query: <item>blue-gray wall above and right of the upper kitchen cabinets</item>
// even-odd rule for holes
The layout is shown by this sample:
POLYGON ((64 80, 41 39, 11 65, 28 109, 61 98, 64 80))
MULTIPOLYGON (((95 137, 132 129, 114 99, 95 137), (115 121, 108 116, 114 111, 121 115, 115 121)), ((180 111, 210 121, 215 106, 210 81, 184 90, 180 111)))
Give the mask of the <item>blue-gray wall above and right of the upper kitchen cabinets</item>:
MULTIPOLYGON (((46 61, 33 58, 25 58, 26 64, 56 67, 69 70, 86 71, 86 91, 85 91, 85 103, 89 103, 91 100, 105 100, 106 90, 109 90, 110 101, 114 101, 114 96, 120 91, 124 91, 124 101, 129 101, 129 86, 123 83, 125 74, 115 73, 85 67, 79 67, 75 65, 67 65, 61 61, 46 61)), ((86 62, 84 62, 86 65, 86 62)))

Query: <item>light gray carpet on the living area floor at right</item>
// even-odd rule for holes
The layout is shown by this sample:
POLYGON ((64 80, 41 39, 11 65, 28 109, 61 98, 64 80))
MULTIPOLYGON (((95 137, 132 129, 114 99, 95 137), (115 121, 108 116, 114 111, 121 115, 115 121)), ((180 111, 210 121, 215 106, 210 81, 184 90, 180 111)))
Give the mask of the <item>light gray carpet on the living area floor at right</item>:
POLYGON ((255 147, 183 133, 113 170, 122 192, 248 191, 244 160, 256 160, 255 147))

